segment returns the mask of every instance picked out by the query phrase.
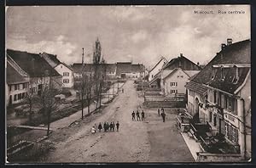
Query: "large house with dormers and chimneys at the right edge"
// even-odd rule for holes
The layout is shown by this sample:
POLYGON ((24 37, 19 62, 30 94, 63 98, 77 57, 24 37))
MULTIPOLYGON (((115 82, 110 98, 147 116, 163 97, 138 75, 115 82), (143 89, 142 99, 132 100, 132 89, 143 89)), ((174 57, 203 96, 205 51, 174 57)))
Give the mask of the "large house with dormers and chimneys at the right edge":
POLYGON ((187 109, 197 126, 210 126, 251 158, 251 42, 227 39, 221 50, 185 85, 187 109))

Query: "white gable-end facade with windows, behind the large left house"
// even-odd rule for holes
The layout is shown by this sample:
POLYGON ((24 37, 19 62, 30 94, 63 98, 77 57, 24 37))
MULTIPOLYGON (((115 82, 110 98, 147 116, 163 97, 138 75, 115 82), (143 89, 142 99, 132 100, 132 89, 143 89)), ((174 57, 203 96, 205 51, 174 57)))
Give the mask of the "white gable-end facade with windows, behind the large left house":
POLYGON ((55 70, 62 76, 63 87, 73 87, 73 70, 65 64, 58 64, 55 70))

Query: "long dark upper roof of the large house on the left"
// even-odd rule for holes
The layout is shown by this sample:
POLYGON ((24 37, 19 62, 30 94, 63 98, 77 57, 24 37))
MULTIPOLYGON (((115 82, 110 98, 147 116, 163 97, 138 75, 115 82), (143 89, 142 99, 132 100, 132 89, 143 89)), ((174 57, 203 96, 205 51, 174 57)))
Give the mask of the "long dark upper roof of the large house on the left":
POLYGON ((26 71, 29 76, 45 76, 45 70, 49 70, 50 76, 61 76, 37 53, 27 53, 7 49, 7 54, 20 66, 22 70, 26 71))

